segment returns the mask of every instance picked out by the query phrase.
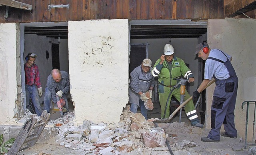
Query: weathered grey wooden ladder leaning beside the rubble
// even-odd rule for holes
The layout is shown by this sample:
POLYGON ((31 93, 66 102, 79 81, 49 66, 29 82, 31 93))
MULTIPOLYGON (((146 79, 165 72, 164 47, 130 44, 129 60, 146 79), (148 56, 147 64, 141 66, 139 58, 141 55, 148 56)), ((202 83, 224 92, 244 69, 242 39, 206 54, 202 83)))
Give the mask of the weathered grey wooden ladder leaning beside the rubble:
POLYGON ((36 118, 33 118, 33 116, 30 115, 28 120, 21 128, 7 155, 17 155, 19 151, 35 145, 42 131, 44 130, 46 123, 49 121, 50 116, 51 114, 47 113, 46 110, 42 112, 42 115, 38 121, 36 121, 36 118))

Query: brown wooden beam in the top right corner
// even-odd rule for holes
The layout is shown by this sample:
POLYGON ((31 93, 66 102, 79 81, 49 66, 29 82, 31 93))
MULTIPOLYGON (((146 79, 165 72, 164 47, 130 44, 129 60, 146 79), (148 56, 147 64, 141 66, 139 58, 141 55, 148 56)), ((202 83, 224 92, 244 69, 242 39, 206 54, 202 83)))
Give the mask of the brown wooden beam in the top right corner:
POLYGON ((247 0, 246 2, 246 4, 243 4, 240 0, 232 0, 226 4, 224 6, 225 17, 235 17, 256 9, 256 0, 247 0))

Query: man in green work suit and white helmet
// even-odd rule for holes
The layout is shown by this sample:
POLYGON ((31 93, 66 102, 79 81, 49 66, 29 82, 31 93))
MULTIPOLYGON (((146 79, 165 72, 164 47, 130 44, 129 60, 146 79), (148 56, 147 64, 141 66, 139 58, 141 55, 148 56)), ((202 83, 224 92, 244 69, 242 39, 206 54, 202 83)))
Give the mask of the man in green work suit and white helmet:
MULTIPOLYGON (((190 69, 186 66, 184 61, 178 57, 174 57, 174 48, 170 44, 166 44, 164 46, 164 55, 158 59, 152 69, 153 77, 158 78, 158 94, 159 101, 161 106, 161 118, 168 118, 170 113, 170 99, 168 101, 168 106, 166 109, 166 115, 164 116, 164 110, 166 107, 166 102, 168 100, 168 96, 175 84, 177 84, 177 80, 174 78, 183 76, 189 80, 189 82, 194 82, 194 75, 190 71, 190 69)), ((180 102, 180 87, 175 88, 170 95, 170 98, 174 96, 180 102)), ((187 91, 185 91, 184 100, 190 98, 190 95, 187 91)), ((199 123, 198 116, 196 114, 195 106, 192 100, 190 100, 185 105, 185 112, 188 119, 191 121, 192 126, 196 126, 199 128, 204 128, 202 124, 199 123)))

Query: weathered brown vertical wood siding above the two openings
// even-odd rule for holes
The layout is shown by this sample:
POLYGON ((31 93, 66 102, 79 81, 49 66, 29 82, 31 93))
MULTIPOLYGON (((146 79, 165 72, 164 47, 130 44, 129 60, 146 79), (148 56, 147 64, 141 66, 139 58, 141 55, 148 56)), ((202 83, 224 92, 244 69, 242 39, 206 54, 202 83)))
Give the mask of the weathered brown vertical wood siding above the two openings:
POLYGON ((32 11, 0 6, 0 23, 54 22, 94 19, 224 18, 224 0, 19 0, 32 11), (69 4, 69 8, 48 5, 69 4))

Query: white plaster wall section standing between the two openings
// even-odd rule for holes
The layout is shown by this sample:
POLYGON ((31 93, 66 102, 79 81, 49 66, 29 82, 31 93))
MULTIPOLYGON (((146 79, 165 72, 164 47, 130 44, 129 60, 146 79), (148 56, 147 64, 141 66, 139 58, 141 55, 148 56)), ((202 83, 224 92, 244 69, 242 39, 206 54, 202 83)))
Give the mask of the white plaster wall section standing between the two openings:
POLYGON ((76 123, 117 123, 128 103, 127 19, 68 22, 69 71, 76 123))

